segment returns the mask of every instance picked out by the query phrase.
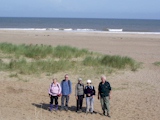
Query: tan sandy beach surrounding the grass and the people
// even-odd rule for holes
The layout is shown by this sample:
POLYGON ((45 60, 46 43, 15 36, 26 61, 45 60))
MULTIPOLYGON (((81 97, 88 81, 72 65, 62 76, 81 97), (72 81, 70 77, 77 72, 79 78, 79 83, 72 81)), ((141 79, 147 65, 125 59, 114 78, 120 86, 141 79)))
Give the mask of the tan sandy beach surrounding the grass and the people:
MULTIPOLYGON (((53 76, 25 76, 27 82, 0 71, 0 120, 159 120, 160 119, 160 34, 53 32, 0 30, 0 42, 13 44, 70 45, 109 55, 129 56, 142 67, 138 71, 121 71, 106 75, 113 89, 110 100, 111 118, 102 116, 100 101, 95 96, 97 114, 76 113, 74 86, 77 75, 69 73, 73 82, 70 110, 49 112, 48 87, 53 76)), ((60 82, 65 73, 54 77, 60 82)), ((93 85, 98 87, 100 76, 93 85)), ((86 80, 84 80, 86 83, 86 80)), ((60 104, 59 99, 59 104, 60 104)), ((85 99, 83 104, 85 110, 85 99)))

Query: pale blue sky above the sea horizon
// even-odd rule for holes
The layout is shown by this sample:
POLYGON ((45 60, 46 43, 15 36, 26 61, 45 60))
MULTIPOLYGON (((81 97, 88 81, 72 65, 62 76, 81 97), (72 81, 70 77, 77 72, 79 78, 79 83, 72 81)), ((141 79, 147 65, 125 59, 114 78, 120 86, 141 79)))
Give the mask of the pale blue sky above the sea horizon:
POLYGON ((160 0, 0 0, 0 17, 160 19, 160 0))

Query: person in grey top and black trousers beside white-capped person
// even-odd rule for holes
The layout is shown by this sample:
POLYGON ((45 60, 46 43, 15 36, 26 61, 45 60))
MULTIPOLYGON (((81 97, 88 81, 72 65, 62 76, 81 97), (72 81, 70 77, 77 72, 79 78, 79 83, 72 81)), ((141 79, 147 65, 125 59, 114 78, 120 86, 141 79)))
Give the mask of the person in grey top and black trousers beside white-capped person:
POLYGON ((75 86, 75 98, 77 100, 76 112, 82 112, 84 98, 84 84, 82 83, 82 78, 78 78, 78 83, 75 86))

